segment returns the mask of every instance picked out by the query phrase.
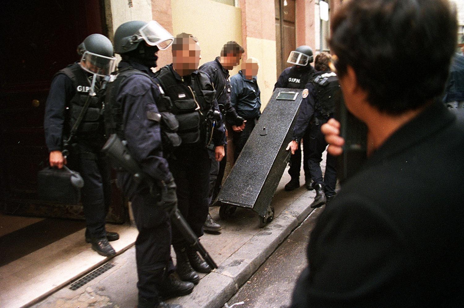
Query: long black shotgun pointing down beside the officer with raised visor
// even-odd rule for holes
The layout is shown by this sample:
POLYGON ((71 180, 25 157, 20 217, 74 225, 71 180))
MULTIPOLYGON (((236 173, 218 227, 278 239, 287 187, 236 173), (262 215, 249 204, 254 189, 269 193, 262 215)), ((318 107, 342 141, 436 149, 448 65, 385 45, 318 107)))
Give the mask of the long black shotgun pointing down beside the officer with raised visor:
MULTIPOLYGON (((103 153, 107 153, 114 167, 124 170, 133 174, 134 179, 139 182, 147 182, 150 185, 150 192, 154 193, 155 182, 154 180, 143 173, 140 166, 132 158, 125 143, 119 139, 116 134, 112 134, 106 141, 102 149, 103 153)), ((156 206, 156 205, 153 205, 156 206)), ((213 258, 208 254, 205 247, 200 243, 200 239, 193 233, 190 226, 187 224, 185 218, 180 214, 179 209, 175 206, 174 210, 170 213, 171 222, 175 225, 182 236, 192 249, 198 251, 203 259, 208 263, 212 269, 217 269, 218 265, 214 262, 213 258)))

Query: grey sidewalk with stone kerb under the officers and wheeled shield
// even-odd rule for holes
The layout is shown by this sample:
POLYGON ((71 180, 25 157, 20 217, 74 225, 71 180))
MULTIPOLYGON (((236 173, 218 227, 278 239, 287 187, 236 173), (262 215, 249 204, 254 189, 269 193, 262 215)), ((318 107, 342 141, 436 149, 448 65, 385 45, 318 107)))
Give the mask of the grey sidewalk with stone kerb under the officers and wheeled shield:
MULTIPOLYGON (((238 208, 231 218, 219 220, 219 207, 210 208, 211 215, 223 225, 223 230, 220 234, 205 234, 201 243, 219 269, 207 275, 200 274, 200 283, 192 294, 168 302, 179 303, 186 308, 223 307, 291 231, 303 222, 312 210, 309 204, 315 193, 304 186, 285 192, 284 185, 290 180, 287 170, 272 201, 275 218, 262 229, 254 212, 238 208)), ((301 179, 304 179, 303 174, 301 179)), ((174 251, 172 256, 175 257, 174 251)), ((135 248, 110 262, 113 265, 111 269, 79 289, 60 289, 34 307, 135 307, 135 248)))

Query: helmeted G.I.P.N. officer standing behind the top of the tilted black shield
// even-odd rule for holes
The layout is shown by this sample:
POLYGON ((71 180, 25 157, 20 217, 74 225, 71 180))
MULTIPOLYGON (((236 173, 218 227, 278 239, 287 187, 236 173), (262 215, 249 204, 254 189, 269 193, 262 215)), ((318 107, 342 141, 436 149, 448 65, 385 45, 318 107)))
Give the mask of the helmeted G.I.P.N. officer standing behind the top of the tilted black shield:
MULTIPOLYGON (((274 85, 276 88, 294 88, 294 89, 305 89, 306 84, 314 76, 314 68, 311 66, 313 62, 313 51, 311 47, 303 45, 291 51, 287 60, 290 64, 295 64, 291 67, 286 68, 277 79, 277 83, 274 85)), ((309 155, 309 131, 304 136, 300 137, 303 139, 303 161, 307 161, 309 155)), ((295 150, 295 154, 290 157, 290 169, 289 174, 291 177, 290 182, 285 185, 286 191, 294 190, 300 187, 300 169, 301 169, 301 149, 300 142, 298 141, 298 148, 295 150)), ((312 180, 309 175, 309 168, 306 163, 303 164, 305 186, 308 190, 312 190, 312 180)))

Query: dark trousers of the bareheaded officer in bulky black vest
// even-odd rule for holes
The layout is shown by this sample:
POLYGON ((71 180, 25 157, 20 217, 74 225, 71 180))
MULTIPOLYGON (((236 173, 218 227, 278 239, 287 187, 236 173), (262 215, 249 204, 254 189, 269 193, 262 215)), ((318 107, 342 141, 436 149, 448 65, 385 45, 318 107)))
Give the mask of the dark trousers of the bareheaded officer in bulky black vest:
MULTIPOLYGON (((178 208, 197 237, 203 235, 208 216, 209 174, 211 158, 204 146, 181 146, 168 160, 177 186, 178 208)), ((173 245, 185 245, 180 232, 173 227, 173 245)))

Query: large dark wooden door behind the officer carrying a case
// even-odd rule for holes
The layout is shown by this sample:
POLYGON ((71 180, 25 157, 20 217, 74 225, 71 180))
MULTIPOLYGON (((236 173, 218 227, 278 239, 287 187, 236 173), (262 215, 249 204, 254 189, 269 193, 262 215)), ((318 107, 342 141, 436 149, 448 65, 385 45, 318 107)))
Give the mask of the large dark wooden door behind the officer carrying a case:
MULTIPOLYGON (((53 75, 79 60, 85 37, 103 33, 100 0, 3 0, 0 18, 0 202, 4 213, 82 218, 82 206, 40 202, 46 166, 43 119, 53 75)), ((111 220, 122 222, 120 196, 111 220)))

